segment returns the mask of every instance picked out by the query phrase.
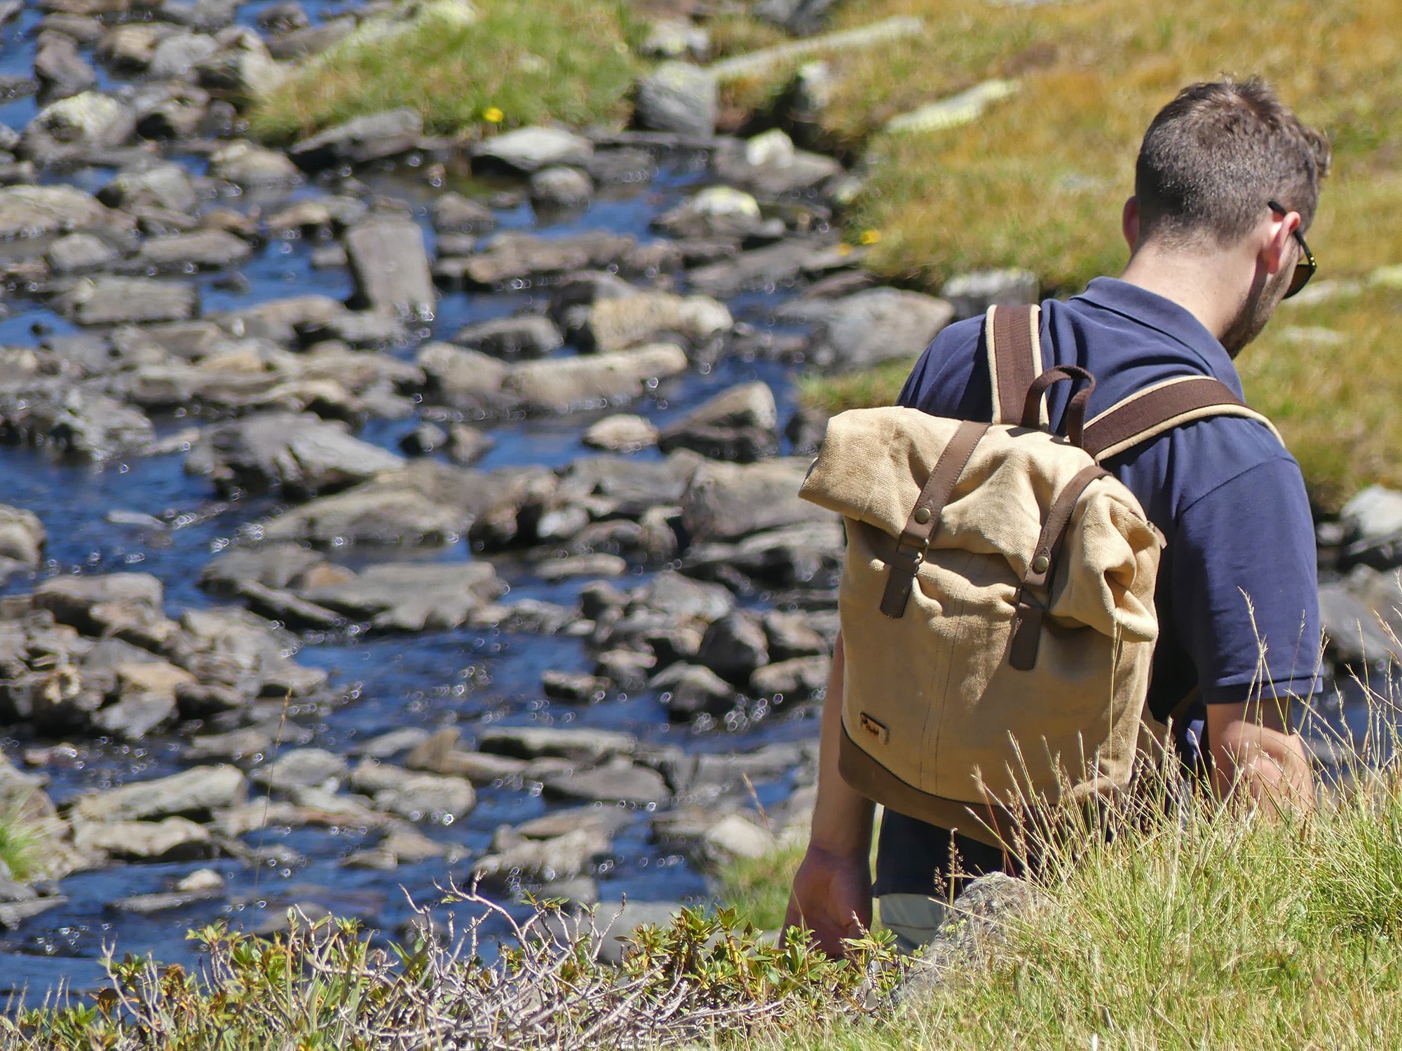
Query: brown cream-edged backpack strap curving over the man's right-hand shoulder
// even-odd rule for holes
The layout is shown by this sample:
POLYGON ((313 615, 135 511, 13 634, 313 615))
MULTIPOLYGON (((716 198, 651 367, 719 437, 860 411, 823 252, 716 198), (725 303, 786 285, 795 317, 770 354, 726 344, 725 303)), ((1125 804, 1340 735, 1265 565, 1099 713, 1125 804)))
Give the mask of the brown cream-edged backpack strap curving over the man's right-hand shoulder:
POLYGON ((1145 387, 1087 422, 1081 444, 1101 462, 1165 430, 1207 416, 1245 416, 1265 423, 1280 437, 1269 419, 1249 408, 1221 380, 1179 376, 1145 387))

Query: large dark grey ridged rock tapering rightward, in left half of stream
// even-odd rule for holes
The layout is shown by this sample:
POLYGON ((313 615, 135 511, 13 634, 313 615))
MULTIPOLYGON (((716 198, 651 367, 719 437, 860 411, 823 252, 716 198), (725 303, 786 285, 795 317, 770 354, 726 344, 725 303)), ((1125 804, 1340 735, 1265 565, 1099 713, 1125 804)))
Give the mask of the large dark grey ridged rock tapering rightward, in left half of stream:
POLYGON ((220 493, 280 488, 289 496, 335 492, 395 471, 404 460, 310 413, 266 412, 205 430, 185 461, 220 493))

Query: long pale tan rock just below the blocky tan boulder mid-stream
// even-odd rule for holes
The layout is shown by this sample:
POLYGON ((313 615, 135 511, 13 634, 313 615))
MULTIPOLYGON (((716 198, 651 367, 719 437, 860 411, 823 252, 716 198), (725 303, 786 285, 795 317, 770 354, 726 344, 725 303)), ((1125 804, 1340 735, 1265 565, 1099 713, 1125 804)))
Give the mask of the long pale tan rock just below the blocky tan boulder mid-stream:
POLYGON ((502 388, 534 412, 571 412, 631 401, 658 380, 687 370, 687 355, 674 343, 637 350, 533 362, 513 369, 502 388))

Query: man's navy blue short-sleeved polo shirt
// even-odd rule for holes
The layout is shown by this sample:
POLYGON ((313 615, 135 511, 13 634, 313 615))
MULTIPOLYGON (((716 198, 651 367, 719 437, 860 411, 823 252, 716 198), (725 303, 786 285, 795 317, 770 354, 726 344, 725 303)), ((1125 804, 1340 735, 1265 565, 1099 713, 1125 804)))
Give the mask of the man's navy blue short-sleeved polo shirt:
MULTIPOLYGON (((1095 377, 1087 419, 1178 376, 1211 376, 1242 392, 1227 350, 1197 318, 1112 277, 1092 280, 1066 303, 1042 304, 1042 362, 1046 369, 1078 364, 1095 377)), ((1049 398, 1052 423, 1061 433, 1071 392, 1070 384, 1057 384, 1049 398)), ((935 338, 900 404, 955 419, 993 418, 983 318, 960 321, 935 338)), ((1159 636, 1150 709, 1164 717, 1193 687, 1202 688, 1206 703, 1241 702, 1255 692, 1314 694, 1314 523, 1300 467, 1270 429, 1241 416, 1213 416, 1130 448, 1105 468, 1168 538, 1155 591, 1159 636)), ((962 853, 987 855, 973 841, 958 841, 962 853)), ((887 810, 876 893, 931 893, 948 855, 946 831, 887 810)))

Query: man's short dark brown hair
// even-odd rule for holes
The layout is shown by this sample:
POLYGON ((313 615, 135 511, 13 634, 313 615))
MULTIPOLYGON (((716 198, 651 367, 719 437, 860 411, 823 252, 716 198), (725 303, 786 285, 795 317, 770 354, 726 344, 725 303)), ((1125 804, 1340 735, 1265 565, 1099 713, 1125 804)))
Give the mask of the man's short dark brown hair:
POLYGON ((1329 172, 1329 140, 1258 77, 1193 84, 1144 133, 1134 165, 1140 237, 1216 237, 1232 244, 1269 200, 1308 230, 1329 172))

